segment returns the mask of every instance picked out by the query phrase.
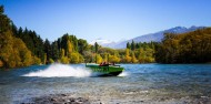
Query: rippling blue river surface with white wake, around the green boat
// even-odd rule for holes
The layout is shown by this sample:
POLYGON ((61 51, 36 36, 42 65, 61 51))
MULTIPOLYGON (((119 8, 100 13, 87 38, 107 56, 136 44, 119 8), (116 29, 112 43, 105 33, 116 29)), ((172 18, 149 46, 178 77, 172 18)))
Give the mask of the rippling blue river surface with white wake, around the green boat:
POLYGON ((211 64, 121 64, 119 76, 93 75, 84 64, 0 71, 0 103, 71 94, 93 104, 211 104, 211 64))

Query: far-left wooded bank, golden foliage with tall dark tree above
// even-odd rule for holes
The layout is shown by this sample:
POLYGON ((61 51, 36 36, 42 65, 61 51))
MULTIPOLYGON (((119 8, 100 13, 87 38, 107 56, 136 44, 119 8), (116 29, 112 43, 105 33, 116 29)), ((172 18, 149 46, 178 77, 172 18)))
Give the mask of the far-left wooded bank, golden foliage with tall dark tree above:
POLYGON ((29 66, 33 64, 33 56, 24 42, 13 37, 11 20, 0 7, 0 67, 29 66))

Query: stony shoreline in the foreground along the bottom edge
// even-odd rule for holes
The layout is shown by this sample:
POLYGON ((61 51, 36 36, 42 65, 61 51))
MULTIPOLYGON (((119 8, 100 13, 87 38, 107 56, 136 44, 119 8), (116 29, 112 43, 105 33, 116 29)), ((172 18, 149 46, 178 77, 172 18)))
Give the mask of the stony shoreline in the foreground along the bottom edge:
MULTIPOLYGON (((102 98, 102 97, 101 97, 102 98)), ((134 100, 101 100, 96 97, 76 97, 73 94, 50 94, 46 96, 32 97, 20 102, 20 104, 210 104, 211 97, 209 96, 185 96, 185 97, 159 97, 159 98, 144 98, 140 97, 134 100)))

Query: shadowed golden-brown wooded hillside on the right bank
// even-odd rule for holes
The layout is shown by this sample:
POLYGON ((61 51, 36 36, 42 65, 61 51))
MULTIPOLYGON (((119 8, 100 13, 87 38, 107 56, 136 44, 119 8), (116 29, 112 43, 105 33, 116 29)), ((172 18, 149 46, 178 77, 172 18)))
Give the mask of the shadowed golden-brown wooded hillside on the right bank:
POLYGON ((211 62, 211 28, 189 33, 165 33, 155 48, 159 63, 207 63, 211 62))

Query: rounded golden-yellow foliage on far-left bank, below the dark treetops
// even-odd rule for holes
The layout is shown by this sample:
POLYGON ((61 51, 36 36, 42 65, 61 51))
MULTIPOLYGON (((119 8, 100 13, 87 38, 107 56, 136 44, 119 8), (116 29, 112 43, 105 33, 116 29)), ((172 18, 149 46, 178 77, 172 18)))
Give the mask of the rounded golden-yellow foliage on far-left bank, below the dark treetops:
POLYGON ((0 58, 4 67, 29 66, 33 63, 31 52, 22 40, 12 37, 11 31, 3 32, 0 41, 0 58))

